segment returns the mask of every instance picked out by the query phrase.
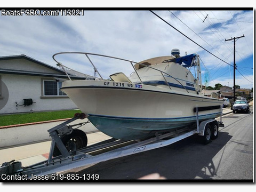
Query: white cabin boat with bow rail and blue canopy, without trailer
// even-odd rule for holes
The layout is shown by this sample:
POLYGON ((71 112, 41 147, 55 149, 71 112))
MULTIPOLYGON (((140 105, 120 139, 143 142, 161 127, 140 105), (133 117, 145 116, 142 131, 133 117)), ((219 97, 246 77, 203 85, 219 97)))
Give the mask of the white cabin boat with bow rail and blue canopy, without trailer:
POLYGON ((178 49, 171 54, 141 62, 86 52, 60 52, 53 59, 69 77, 62 82, 61 91, 99 131, 115 139, 139 140, 217 118, 222 113, 223 100, 201 93, 199 55, 181 57, 178 49), (98 77, 72 81, 65 66, 55 59, 60 54, 84 54, 98 77), (134 71, 130 76, 123 71, 103 79, 92 55, 125 61, 134 71))

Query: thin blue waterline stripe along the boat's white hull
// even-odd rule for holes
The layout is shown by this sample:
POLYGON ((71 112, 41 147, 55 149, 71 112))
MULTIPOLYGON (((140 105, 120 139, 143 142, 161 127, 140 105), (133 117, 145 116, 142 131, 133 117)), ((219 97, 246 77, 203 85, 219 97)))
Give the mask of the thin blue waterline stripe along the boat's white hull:
MULTIPOLYGON (((203 116, 211 116, 211 115, 217 115, 219 113, 212 113, 207 115, 198 115, 198 117, 203 116)), ((196 116, 188 116, 188 117, 175 117, 175 118, 139 118, 139 117, 115 117, 115 116, 107 116, 107 115, 94 115, 94 114, 88 114, 91 117, 103 117, 103 118, 116 118, 116 119, 135 119, 135 120, 172 120, 172 119, 185 119, 185 118, 195 118, 196 116)))

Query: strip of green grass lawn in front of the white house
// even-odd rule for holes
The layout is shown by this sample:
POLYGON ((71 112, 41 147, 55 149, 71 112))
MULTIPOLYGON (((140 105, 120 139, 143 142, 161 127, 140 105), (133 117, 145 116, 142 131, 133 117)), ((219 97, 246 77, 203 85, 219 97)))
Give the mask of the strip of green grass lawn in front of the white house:
POLYGON ((34 112, 26 114, 0 115, 0 126, 34 123, 74 117, 81 110, 34 112))

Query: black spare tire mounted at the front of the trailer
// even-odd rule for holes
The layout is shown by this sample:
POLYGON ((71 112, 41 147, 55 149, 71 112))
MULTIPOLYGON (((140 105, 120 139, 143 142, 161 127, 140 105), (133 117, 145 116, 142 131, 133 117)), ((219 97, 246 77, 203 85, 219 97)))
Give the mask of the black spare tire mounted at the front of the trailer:
MULTIPOLYGON (((88 141, 85 132, 81 130, 73 130, 72 133, 65 135, 61 140, 69 152, 86 147, 88 141)), ((53 157, 59 155, 61 155, 60 150, 55 146, 53 157)))

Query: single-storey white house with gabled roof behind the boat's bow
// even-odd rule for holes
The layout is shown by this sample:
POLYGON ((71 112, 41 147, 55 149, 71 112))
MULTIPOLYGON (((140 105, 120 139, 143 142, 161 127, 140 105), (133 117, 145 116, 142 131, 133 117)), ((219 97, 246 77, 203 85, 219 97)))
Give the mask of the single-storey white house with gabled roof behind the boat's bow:
POLYGON ((0 114, 77 108, 54 77, 67 79, 63 70, 26 55, 0 57, 0 114))

